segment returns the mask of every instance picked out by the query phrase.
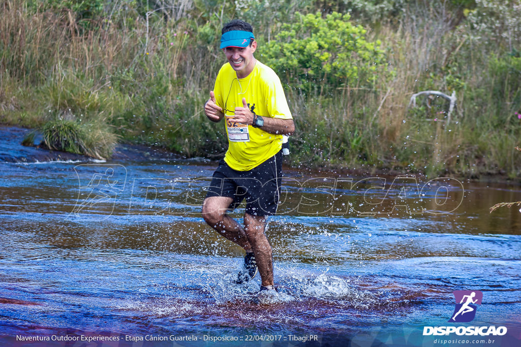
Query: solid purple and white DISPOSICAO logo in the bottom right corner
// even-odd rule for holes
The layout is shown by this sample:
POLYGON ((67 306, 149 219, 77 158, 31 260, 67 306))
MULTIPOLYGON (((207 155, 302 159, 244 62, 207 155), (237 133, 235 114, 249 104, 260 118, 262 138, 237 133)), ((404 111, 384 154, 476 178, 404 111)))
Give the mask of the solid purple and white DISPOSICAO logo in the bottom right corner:
MULTIPOLYGON (((481 305, 483 293, 479 290, 455 290, 454 298, 456 307, 452 313, 449 323, 468 323, 476 317, 478 305, 481 305)), ((424 327, 423 335, 450 335, 455 333, 462 336, 503 336, 506 334, 506 327, 494 325, 491 326, 441 326, 441 327, 424 327)))

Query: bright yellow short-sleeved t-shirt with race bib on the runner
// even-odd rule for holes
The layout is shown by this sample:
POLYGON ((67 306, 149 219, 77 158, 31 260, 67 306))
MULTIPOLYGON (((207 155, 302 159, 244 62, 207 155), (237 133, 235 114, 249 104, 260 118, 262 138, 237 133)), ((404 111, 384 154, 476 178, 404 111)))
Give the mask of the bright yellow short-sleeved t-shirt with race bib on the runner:
POLYGON ((214 93, 217 105, 225 113, 228 134, 225 161, 230 168, 237 171, 252 170, 280 151, 282 135, 233 122, 235 107, 244 107, 242 98, 246 98, 248 107, 253 107, 253 112, 263 118, 292 119, 275 71, 256 61, 253 71, 246 78, 238 79, 237 73, 226 63, 217 74, 214 93))

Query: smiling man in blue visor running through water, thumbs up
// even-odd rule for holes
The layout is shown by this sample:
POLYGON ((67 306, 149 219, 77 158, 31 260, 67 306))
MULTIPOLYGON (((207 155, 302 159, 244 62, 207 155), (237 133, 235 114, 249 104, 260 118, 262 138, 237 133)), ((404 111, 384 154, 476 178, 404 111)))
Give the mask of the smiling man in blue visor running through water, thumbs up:
POLYGON ((258 272, 261 291, 275 290, 266 219, 277 211, 282 175, 282 135, 295 130, 277 74, 257 61, 252 25, 225 24, 220 49, 228 60, 204 106, 206 117, 225 119, 228 151, 214 172, 203 202, 203 218, 219 234, 244 249, 242 284, 258 272), (246 199, 244 226, 226 214, 246 199))

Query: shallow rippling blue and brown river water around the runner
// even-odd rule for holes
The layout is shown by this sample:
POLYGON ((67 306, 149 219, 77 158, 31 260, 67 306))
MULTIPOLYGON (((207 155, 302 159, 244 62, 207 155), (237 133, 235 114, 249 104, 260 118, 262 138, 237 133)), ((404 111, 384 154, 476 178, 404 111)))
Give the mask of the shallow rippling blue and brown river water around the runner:
POLYGON ((521 345, 521 213, 489 213, 519 185, 286 168, 266 301, 199 214, 215 165, 0 162, 0 344, 521 345), (458 290, 482 293, 470 322, 448 322, 458 290))

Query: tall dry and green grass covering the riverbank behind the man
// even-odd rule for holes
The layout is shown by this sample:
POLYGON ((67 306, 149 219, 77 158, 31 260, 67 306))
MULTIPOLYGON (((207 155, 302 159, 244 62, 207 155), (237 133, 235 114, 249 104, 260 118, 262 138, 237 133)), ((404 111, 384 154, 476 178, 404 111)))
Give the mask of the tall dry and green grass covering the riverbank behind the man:
MULTIPOLYGON (((380 40, 387 52, 390 78, 380 77, 370 89, 345 86, 330 97, 288 89, 297 127, 292 165, 430 176, 519 173, 521 159, 513 155, 521 131, 514 117, 521 111, 517 58, 499 49, 500 42, 494 52, 481 49, 461 18, 441 3, 421 3, 375 25, 378 30, 366 23, 368 40, 380 40), (429 89, 456 92, 450 123, 441 99, 407 107, 413 93, 429 89)), ((205 119, 202 105, 225 62, 218 33, 234 5, 205 11, 189 0, 167 5, 143 11, 110 3, 105 17, 80 30, 70 10, 2 2, 0 122, 43 127, 66 120, 90 128, 93 139, 113 142, 105 148, 119 137, 187 157, 222 155, 224 130, 205 119)), ((257 33, 277 31, 274 21, 264 22, 257 33)))

